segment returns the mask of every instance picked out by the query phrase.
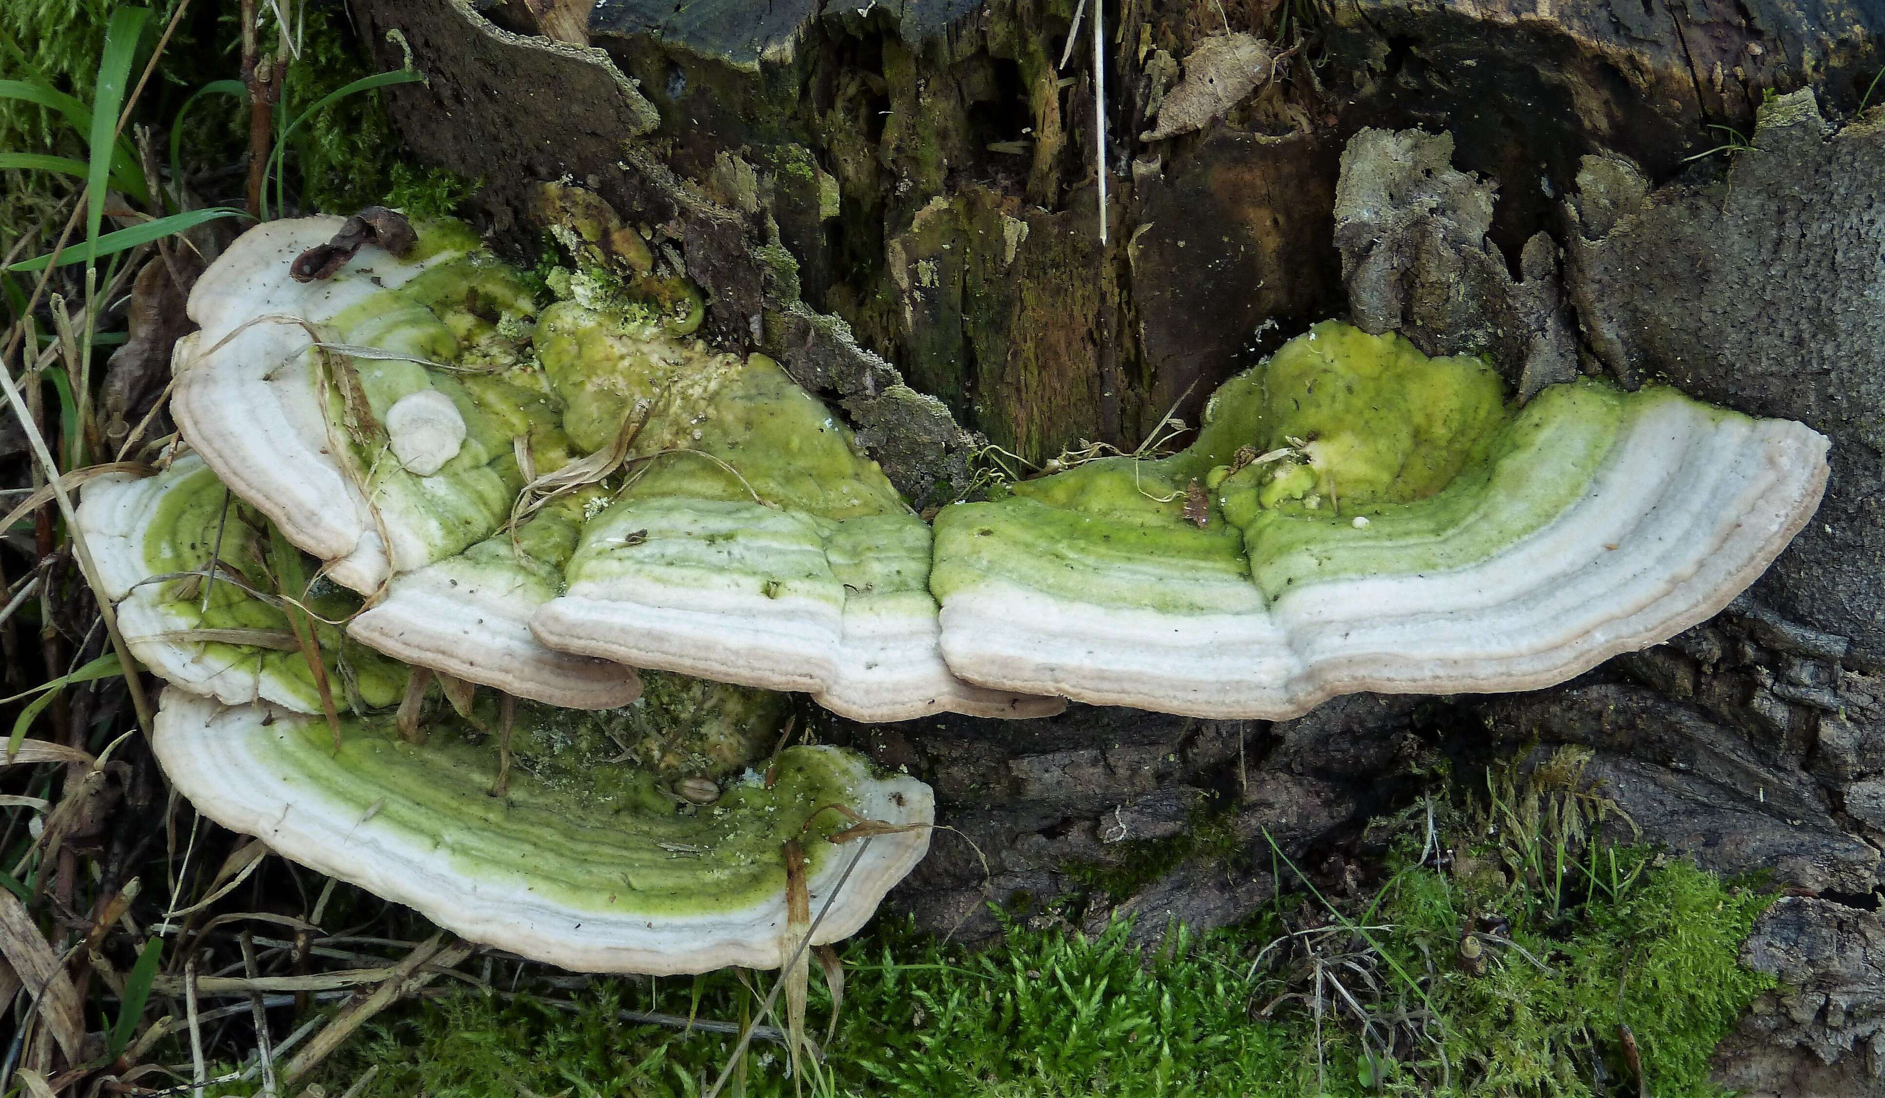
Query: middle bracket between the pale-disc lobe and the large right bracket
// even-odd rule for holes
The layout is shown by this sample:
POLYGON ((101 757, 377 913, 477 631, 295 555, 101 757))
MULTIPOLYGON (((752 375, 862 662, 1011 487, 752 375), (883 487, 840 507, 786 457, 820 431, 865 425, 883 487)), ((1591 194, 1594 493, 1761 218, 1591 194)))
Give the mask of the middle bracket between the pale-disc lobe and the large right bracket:
POLYGON ((937 654, 929 527, 773 360, 664 356, 560 303, 537 348, 579 444, 639 409, 637 463, 584 525, 539 640, 635 667, 801 689, 858 719, 1059 708, 961 684, 937 654))

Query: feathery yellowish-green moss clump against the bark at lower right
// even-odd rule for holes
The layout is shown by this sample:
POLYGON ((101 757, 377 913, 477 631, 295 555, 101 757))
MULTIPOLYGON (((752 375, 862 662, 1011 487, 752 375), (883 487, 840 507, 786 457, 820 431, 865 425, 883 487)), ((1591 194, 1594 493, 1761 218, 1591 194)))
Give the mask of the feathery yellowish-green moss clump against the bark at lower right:
POLYGON ((1627 883, 1606 893, 1585 881, 1582 902, 1553 919, 1527 887, 1408 870, 1402 857, 1380 906, 1393 927, 1382 945, 1404 972, 1425 974, 1421 991, 1446 1030, 1391 1064, 1389 1081, 1434 1075, 1444 1051, 1465 1075, 1461 1094, 1598 1094, 1593 1057, 1612 1079, 1629 1079, 1617 1036, 1627 1025, 1649 1092, 1719 1092, 1708 1083, 1710 1055, 1772 987, 1736 957, 1772 896, 1636 849, 1598 849, 1591 864, 1627 883), (1510 945, 1482 938, 1487 966, 1474 974, 1457 962, 1459 942, 1482 915, 1510 919, 1510 945))

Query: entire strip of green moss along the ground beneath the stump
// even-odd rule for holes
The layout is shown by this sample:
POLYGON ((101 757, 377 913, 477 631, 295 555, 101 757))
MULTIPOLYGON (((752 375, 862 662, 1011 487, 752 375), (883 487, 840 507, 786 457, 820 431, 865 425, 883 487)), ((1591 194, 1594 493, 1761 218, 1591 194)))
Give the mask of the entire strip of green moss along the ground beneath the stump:
MULTIPOLYGON (((1617 851, 1623 859, 1642 857, 1617 851)), ((1629 861, 1625 864, 1631 864, 1629 861)), ((1512 940, 1483 976, 1451 957, 1461 919, 1510 912, 1523 896, 1468 891, 1431 868, 1404 872, 1369 912, 1391 927, 1378 940, 1419 994, 1397 985, 1380 955, 1372 964, 1387 998, 1433 1009, 1434 1045, 1402 1045, 1385 1070, 1367 1068, 1352 1011, 1329 1011, 1320 1028, 1287 987, 1252 959, 1282 930, 1255 925, 1182 938, 1150 957, 1125 944, 1123 925, 1101 936, 1008 925, 992 949, 944 945, 905 923, 880 921, 839 945, 844 1002, 826 1060, 803 1079, 786 1074, 775 1045, 756 1043, 745 1094, 910 1098, 1201 1096, 1303 1098, 1310 1094, 1595 1096, 1634 1092, 1621 1062, 1617 1021, 1636 1034, 1649 1089, 1661 1098, 1715 1094, 1708 1057, 1766 981, 1736 962, 1736 945, 1768 902, 1687 863, 1646 864, 1617 896, 1580 906, 1551 927, 1514 923, 1512 940), (1506 906, 1499 906, 1499 904, 1506 906), (1621 987, 1621 994, 1619 994, 1621 987), (1591 1079, 1606 1062, 1610 1087, 1591 1079), (1378 1074, 1378 1085, 1365 1077, 1378 1074)), ((1286 904, 1295 910, 1297 900, 1286 904)), ((1357 912, 1359 913, 1359 912, 1357 912)), ((1269 957, 1274 957, 1270 951, 1269 957)), ((1359 983, 1350 981, 1357 989, 1359 983)), ((762 979, 760 994, 765 991, 762 979)), ((1365 1002, 1374 993, 1361 989, 1365 1002)), ((567 1009, 522 998, 464 996, 405 1006, 336 1062, 330 1092, 368 1066, 368 1098, 435 1094, 684 1096, 705 1090, 731 1053, 731 1038, 643 1025, 622 1009, 750 1015, 752 993, 735 974, 699 981, 609 981, 567 1009)), ((829 996, 812 981, 809 1019, 822 1026, 829 996)), ((824 1036, 822 1032, 818 1034, 824 1036)), ((735 1090, 737 1092, 737 1090, 735 1090)))

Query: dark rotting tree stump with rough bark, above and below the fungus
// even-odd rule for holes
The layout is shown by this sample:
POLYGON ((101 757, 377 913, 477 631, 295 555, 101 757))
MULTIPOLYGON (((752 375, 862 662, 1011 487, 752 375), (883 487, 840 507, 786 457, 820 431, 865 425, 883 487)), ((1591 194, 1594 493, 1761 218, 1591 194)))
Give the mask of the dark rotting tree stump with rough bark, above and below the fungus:
MULTIPOLYGON (((1646 838, 1817 896, 1747 944, 1791 991, 1725 1081, 1885 1092, 1885 122, 1857 117, 1885 0, 1095 2, 1103 119, 1074 0, 352 15, 381 64, 428 75, 386 92, 402 132, 483 179, 498 241, 533 247, 530 183, 598 190, 707 288, 711 339, 841 407, 918 507, 990 443, 1042 461, 1195 422, 1338 315, 1485 350, 1525 390, 1664 379, 1828 433, 1827 505, 1749 595, 1559 689, 833 735, 937 787, 958 832, 899 896, 956 936, 1199 812, 1320 857, 1436 755, 1585 746, 1646 838)), ((1125 906, 1156 934, 1272 891, 1188 861, 1125 906)))

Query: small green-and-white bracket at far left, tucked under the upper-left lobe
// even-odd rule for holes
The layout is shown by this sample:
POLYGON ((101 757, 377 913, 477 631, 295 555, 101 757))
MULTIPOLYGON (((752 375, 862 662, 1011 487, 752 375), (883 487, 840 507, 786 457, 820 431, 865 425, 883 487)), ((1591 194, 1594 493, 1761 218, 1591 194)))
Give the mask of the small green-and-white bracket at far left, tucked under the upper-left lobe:
MULTIPOLYGON (((98 476, 85 486, 79 527, 117 605, 119 629, 151 670, 224 704, 268 701, 320 712, 287 614, 256 593, 275 586, 260 520, 230 499, 200 458, 179 458, 155 476, 98 476)), ((336 693, 369 708, 400 701, 407 669, 332 625, 358 610, 360 599, 317 586, 303 605, 336 693)))

